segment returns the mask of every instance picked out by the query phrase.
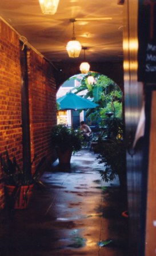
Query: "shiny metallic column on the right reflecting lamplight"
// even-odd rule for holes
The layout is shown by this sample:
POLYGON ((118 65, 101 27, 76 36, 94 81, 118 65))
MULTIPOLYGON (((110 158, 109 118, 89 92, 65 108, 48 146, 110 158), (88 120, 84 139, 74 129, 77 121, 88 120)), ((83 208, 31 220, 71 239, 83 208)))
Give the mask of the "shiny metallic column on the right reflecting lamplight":
POLYGON ((142 186, 145 141, 138 140, 137 145, 133 148, 143 104, 143 83, 138 82, 138 3, 139 1, 136 0, 125 0, 124 3, 123 66, 130 253, 135 256, 143 256, 145 248, 142 241, 145 229, 142 226, 141 209, 143 203, 142 191, 146 189, 142 186))

